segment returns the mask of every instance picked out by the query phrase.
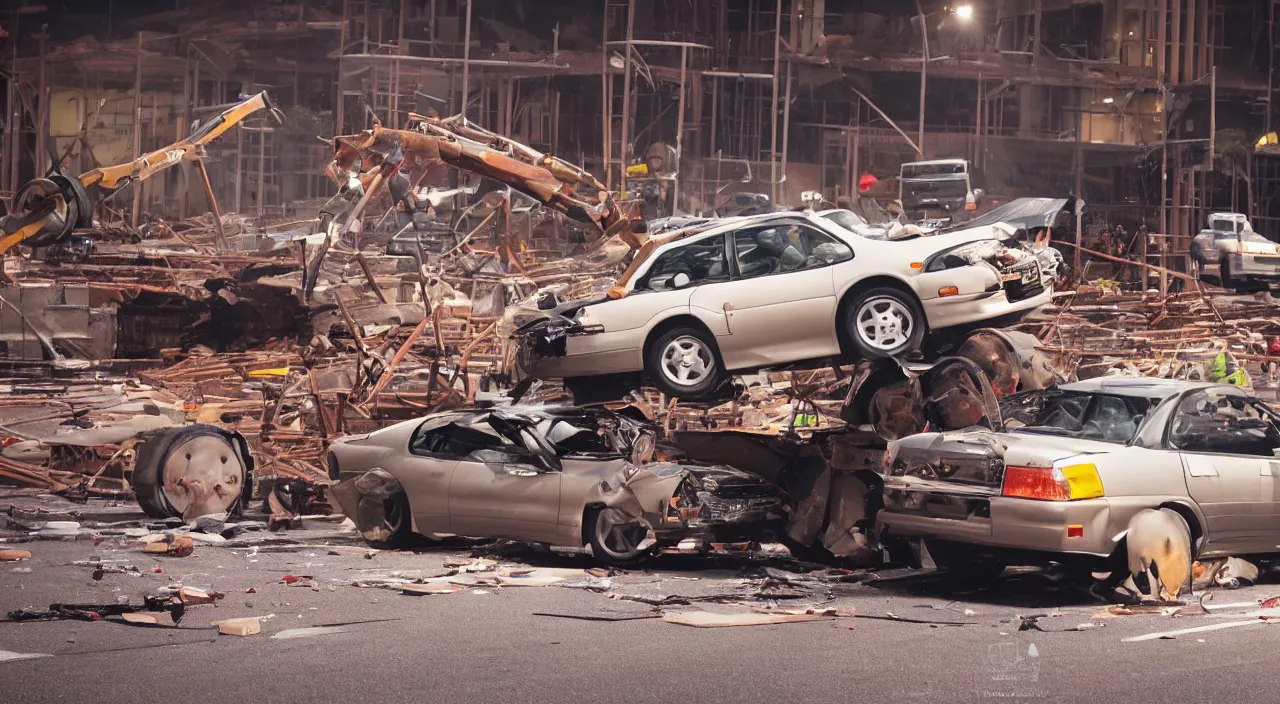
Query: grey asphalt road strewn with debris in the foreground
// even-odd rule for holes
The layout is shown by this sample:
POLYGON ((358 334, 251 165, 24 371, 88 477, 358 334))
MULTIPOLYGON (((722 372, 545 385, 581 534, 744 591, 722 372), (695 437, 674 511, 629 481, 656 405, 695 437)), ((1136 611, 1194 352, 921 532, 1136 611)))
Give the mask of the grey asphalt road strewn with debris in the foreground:
MULTIPOLYGON (((0 701, 1275 701, 1280 628, 1242 616, 1247 608, 1114 616, 1106 604, 1042 575, 1006 573, 968 593, 954 591, 940 575, 904 571, 861 584, 795 586, 765 582, 759 563, 663 557, 608 577, 604 591, 480 584, 411 596, 351 582, 444 575, 447 561, 476 554, 500 557, 503 564, 591 563, 525 550, 495 556, 467 545, 367 553, 352 541, 337 549, 198 545, 182 558, 145 554, 124 540, 5 547, 33 557, 0 563, 0 613, 51 603, 138 602, 170 584, 211 588, 225 599, 191 607, 177 627, 0 622, 0 701), (96 561, 138 572, 93 580, 96 561), (282 581, 287 575, 310 576, 315 585, 291 586, 282 581), (762 589, 791 598, 750 596, 762 589), (746 595, 744 603, 695 600, 663 612, 744 613, 745 604, 777 604, 854 608, 856 617, 696 628, 664 622, 655 617, 659 609, 611 593, 746 595), (1046 614, 1037 622, 1042 631, 1019 631, 1034 614, 1046 614), (250 616, 268 617, 260 635, 218 635, 210 626, 250 616), (298 635, 297 628, 314 626, 333 627, 298 635), (1226 627, 1185 632, 1211 626, 1226 627), (273 637, 284 631, 298 637, 273 637), (1184 632, 1128 640, 1169 631, 1184 632), (38 657, 14 659, 20 655, 38 657)), ((804 582, 803 572, 794 576, 804 582)), ((486 573, 453 579, 483 582, 486 573)), ((1217 591, 1212 604, 1275 594, 1280 585, 1217 591)))

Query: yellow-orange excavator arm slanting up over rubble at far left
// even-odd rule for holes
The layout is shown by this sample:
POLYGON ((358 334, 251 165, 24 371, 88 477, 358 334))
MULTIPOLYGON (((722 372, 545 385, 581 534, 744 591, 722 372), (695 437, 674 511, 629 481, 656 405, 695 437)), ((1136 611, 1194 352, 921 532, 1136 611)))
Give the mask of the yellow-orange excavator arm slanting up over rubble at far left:
POLYGON ((77 227, 90 227, 93 207, 101 197, 134 180, 146 180, 180 161, 200 159, 205 145, 264 109, 280 120, 266 92, 261 92, 228 108, 191 136, 133 161, 97 168, 76 178, 51 174, 28 180, 14 193, 10 214, 0 218, 0 257, 20 243, 45 247, 69 236, 77 227))

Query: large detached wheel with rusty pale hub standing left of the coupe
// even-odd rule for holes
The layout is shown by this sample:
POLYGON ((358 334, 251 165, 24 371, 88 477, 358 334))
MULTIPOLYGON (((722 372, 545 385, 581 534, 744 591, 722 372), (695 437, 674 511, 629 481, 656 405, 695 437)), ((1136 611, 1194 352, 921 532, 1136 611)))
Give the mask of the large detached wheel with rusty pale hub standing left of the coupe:
POLYGON ((252 471, 248 443, 241 434, 212 425, 186 425, 160 430, 138 444, 131 483, 142 512, 152 518, 182 517, 201 497, 207 506, 216 504, 230 515, 238 513, 252 495, 252 471), (207 498, 210 493, 212 499, 207 498))

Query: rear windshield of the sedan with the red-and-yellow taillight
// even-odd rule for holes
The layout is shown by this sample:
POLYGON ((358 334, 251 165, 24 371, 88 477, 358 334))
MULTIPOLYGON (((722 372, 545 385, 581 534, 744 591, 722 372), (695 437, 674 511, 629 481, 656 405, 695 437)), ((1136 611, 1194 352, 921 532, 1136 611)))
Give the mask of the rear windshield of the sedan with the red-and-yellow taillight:
POLYGON ((1050 389, 1009 397, 1001 412, 1014 433, 1128 444, 1152 404, 1139 397, 1050 389))

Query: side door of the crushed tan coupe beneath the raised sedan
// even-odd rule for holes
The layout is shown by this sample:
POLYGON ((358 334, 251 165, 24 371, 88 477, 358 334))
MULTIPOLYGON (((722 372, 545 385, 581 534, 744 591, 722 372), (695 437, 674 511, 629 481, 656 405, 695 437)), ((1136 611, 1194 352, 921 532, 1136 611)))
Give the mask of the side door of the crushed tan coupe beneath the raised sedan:
MULTIPOLYGON (((494 412, 488 422, 499 425, 494 412)), ((527 428, 504 426, 504 443, 472 452, 449 481, 452 532, 554 541, 559 516, 561 468, 554 454, 531 440, 527 428), (517 444, 518 443, 518 444, 517 444)))

